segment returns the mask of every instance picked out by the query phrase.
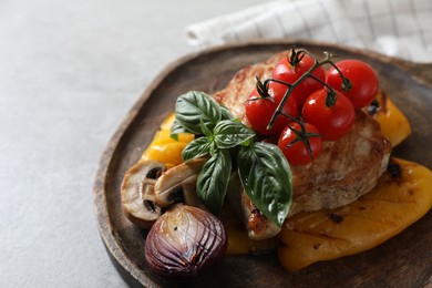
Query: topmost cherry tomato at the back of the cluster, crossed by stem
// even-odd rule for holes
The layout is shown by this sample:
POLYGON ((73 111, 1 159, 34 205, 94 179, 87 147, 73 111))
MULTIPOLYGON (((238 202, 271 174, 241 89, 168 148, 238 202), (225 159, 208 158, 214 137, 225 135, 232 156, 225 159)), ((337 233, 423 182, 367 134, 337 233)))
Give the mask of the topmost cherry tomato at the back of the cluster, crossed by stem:
MULTIPOLYGON (((305 54, 304 58, 294 66, 289 63, 289 56, 284 58, 275 66, 272 78, 292 84, 300 76, 302 76, 313 65, 313 59, 308 54, 305 54)), ((326 71, 322 66, 316 68, 312 72, 312 75, 320 79, 322 82, 326 80, 326 71)), ((307 78, 292 90, 291 96, 296 100, 297 105, 301 107, 306 99, 313 91, 321 88, 322 84, 317 80, 307 78)))

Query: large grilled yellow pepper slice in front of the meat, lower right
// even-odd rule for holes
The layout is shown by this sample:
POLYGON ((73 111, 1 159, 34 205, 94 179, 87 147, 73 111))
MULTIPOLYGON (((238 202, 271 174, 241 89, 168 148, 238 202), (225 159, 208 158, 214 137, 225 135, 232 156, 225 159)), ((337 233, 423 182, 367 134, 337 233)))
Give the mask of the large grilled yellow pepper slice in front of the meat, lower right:
POLYGON ((377 187, 331 210, 300 213, 282 226, 278 257, 287 270, 378 246, 425 215, 432 206, 432 172, 394 158, 400 177, 385 172, 377 187))

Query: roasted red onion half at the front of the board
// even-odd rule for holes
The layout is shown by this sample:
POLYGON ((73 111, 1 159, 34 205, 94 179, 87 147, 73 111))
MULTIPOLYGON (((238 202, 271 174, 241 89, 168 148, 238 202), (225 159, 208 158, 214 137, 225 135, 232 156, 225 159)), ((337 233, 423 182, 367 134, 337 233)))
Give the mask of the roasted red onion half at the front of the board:
POLYGON ((150 267, 164 276, 196 276, 227 248, 222 222, 203 209, 177 204, 153 225, 145 241, 150 267))

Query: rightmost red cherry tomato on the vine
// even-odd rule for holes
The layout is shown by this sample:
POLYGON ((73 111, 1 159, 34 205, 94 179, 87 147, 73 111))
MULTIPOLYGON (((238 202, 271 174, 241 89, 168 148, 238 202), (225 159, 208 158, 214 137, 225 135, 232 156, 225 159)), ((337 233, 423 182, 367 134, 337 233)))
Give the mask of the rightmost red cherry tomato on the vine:
POLYGON ((342 92, 352 102, 354 109, 369 105, 379 89, 378 78, 372 68, 360 60, 342 60, 337 62, 336 66, 350 81, 351 89, 348 92, 343 90, 342 78, 333 66, 327 71, 326 82, 342 92))

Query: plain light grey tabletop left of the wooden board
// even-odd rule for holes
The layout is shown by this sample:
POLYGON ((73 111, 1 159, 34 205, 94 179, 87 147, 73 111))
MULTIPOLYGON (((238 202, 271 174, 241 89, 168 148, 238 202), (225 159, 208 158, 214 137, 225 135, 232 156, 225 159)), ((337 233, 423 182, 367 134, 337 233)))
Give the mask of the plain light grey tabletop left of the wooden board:
POLYGON ((99 158, 184 28, 259 0, 0 1, 0 287, 124 287, 99 237, 99 158))

